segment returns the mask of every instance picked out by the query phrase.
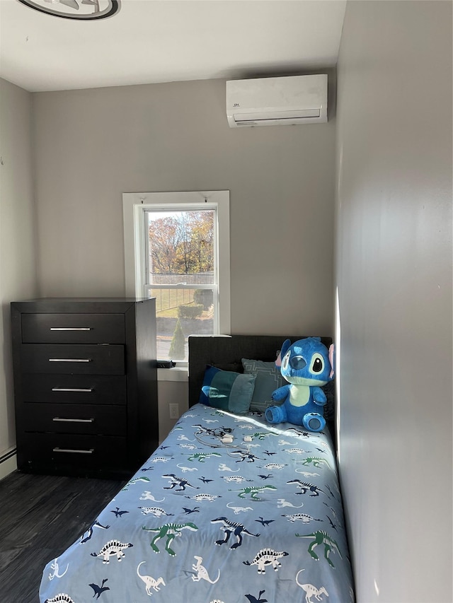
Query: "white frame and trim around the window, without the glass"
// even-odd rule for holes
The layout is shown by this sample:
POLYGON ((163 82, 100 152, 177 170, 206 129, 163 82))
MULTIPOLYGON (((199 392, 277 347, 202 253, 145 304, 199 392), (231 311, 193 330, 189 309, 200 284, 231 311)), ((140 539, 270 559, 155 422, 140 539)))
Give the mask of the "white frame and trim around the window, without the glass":
MULTIPOLYGON (((229 270, 229 191, 123 193, 125 290, 128 297, 144 298, 146 273, 146 210, 215 209, 217 212, 218 333, 231 329, 229 270)), ((178 363, 180 364, 180 363, 178 363)), ((184 363, 182 363, 184 364, 184 363)), ((186 363, 185 363, 186 364, 186 363)))

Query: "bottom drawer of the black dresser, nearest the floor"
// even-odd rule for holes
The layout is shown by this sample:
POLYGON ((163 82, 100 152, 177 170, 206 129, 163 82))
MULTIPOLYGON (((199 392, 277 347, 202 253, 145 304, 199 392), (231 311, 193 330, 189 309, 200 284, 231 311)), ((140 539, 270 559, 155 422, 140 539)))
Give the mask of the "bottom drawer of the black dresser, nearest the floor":
MULTIPOLYGON (((19 452, 19 451, 18 451, 19 452)), ((126 438, 113 435, 68 435, 28 433, 21 446, 24 469, 49 466, 55 471, 67 467, 93 471, 99 467, 127 466, 126 438)))

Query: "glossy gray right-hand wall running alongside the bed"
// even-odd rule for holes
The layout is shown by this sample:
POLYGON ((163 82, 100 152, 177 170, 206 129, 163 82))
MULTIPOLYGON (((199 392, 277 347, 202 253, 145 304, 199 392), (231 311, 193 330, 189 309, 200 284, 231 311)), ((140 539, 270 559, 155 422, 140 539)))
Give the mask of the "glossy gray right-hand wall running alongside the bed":
POLYGON ((348 2, 340 469, 359 603, 452 602, 452 3, 348 2))

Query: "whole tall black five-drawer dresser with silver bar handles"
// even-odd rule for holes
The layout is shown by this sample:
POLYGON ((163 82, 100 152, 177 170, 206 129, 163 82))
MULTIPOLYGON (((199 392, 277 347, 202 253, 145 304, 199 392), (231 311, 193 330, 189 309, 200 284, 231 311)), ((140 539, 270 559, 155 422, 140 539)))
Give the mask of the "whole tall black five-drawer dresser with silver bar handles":
POLYGON ((124 479, 158 445, 154 298, 11 303, 18 469, 124 479))

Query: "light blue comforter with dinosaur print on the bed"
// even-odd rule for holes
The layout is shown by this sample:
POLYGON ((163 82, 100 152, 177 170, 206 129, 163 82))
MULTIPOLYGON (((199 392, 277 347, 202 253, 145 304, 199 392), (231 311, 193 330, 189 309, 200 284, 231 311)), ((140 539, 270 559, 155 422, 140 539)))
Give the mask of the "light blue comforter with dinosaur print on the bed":
POLYGON ((193 406, 45 567, 41 603, 93 599, 353 602, 330 436, 193 406))

